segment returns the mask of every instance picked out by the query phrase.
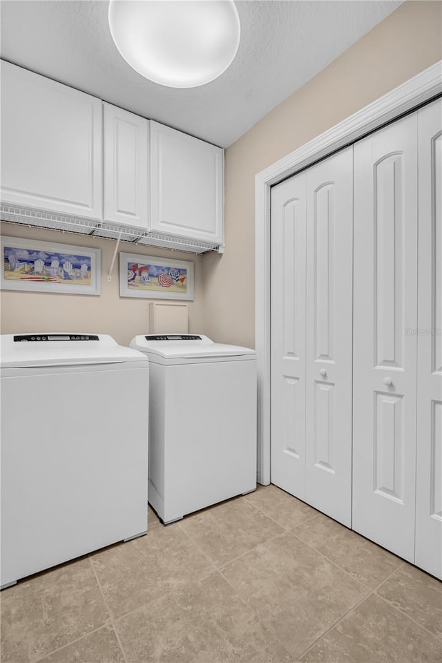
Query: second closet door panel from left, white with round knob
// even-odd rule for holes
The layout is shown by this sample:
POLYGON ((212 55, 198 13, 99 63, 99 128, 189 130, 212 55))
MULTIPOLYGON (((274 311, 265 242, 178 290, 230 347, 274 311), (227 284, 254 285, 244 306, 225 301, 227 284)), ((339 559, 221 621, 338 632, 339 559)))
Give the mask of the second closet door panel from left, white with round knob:
POLYGON ((353 148, 307 171, 305 499, 352 526, 353 148))

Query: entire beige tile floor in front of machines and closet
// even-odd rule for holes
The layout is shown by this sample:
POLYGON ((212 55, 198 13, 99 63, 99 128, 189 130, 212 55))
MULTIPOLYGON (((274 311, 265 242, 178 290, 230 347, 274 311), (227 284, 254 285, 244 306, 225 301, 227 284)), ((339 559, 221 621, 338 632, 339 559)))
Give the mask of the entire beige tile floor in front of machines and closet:
POLYGON ((440 663, 442 584, 262 486, 1 593, 2 663, 440 663))

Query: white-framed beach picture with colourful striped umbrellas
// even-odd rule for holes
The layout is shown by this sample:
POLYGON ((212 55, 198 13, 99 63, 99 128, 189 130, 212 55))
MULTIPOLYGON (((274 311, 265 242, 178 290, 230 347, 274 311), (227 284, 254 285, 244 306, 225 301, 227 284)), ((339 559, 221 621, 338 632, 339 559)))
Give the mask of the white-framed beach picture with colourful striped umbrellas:
POLYGON ((193 262, 119 254, 121 297, 193 300, 193 262))

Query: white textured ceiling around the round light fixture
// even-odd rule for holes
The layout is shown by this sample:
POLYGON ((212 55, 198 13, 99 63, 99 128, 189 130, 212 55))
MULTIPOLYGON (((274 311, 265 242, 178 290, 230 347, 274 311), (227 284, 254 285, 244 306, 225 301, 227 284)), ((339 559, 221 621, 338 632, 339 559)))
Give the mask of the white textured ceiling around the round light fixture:
POLYGON ((1 57, 227 147, 400 4, 236 1, 236 59, 191 89, 162 87, 128 66, 109 32, 106 0, 2 0, 1 57))

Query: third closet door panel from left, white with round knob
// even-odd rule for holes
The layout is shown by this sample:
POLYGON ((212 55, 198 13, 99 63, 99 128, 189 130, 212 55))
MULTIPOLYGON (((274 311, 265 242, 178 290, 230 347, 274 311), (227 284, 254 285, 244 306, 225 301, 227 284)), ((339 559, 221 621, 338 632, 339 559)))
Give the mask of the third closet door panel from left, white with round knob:
POLYGON ((354 146, 353 528, 414 560, 417 116, 354 146))

